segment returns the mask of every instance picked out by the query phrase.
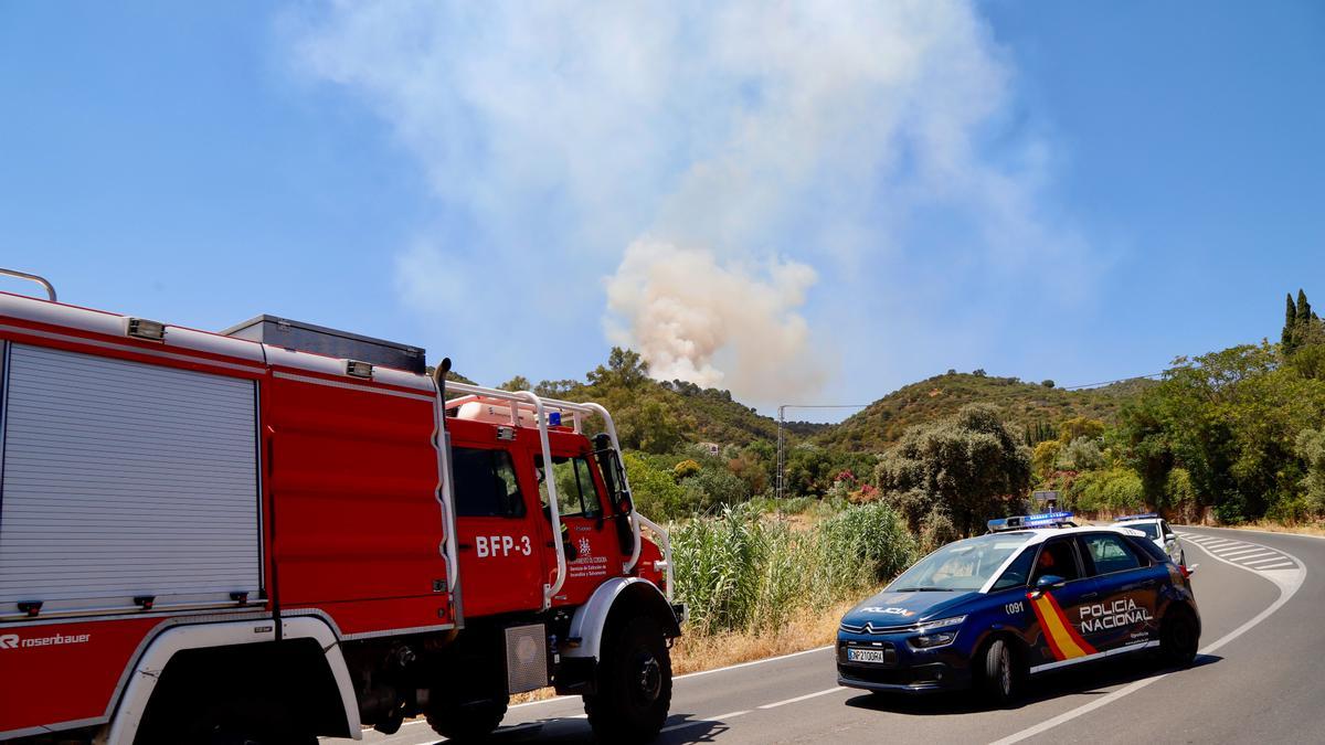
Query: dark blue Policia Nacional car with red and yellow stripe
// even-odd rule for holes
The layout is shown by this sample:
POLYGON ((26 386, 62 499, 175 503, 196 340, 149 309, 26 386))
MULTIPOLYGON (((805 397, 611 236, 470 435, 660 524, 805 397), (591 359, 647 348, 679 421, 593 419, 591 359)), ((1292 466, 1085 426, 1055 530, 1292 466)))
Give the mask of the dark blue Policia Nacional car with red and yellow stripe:
POLYGON ((1186 665, 1200 615, 1190 570, 1141 533, 1076 526, 1071 513, 991 520, 852 608, 837 681, 874 692, 977 685, 996 703, 1030 675, 1158 651, 1186 665))

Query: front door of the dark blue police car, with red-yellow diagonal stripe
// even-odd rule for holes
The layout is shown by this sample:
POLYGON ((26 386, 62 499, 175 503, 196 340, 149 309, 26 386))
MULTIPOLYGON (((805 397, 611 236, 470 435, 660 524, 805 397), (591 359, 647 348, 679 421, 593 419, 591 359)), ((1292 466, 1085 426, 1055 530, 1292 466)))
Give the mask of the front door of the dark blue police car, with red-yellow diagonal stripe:
POLYGON ((1096 654, 1079 627, 1083 608, 1096 598, 1094 581, 1085 573, 1076 541, 1069 536, 1045 541, 1036 557, 1027 593, 1040 627, 1032 671, 1071 664, 1096 654), (1057 578, 1057 582, 1040 585, 1041 578, 1057 578))

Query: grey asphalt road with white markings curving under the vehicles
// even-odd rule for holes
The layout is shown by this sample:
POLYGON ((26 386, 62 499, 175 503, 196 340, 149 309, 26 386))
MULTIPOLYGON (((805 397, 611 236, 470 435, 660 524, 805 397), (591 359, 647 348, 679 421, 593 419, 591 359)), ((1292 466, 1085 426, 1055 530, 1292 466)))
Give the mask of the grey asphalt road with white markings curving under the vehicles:
MULTIPOLYGON (((1026 701, 876 701, 839 688, 829 648, 676 680, 659 742, 1318 742, 1325 737, 1325 540, 1179 529, 1203 632, 1189 669, 1140 656, 1037 677, 1026 701)), ((496 742, 591 740, 579 699, 513 707, 496 742)), ((366 742, 439 742, 409 722, 366 742)), ((348 740, 331 742, 351 742, 348 740)))

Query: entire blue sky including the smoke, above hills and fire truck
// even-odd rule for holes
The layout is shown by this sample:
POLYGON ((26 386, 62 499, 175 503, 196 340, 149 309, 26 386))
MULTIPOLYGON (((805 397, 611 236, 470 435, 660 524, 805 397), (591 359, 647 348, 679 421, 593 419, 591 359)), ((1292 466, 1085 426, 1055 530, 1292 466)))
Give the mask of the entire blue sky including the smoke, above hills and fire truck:
POLYGON ((1320 4, 876 5, 0 4, 0 265, 766 411, 1154 372, 1325 294, 1320 4))

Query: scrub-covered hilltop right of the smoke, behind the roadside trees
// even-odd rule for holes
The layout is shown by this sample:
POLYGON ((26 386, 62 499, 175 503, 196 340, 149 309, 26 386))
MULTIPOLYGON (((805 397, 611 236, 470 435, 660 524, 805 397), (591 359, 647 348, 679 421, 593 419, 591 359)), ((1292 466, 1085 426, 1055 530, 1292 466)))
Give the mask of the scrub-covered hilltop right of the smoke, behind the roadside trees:
MULTIPOLYGON (((950 371, 888 394, 841 424, 819 432, 812 441, 832 449, 881 452, 901 439, 908 427, 950 416, 967 403, 999 407, 1015 435, 1036 427, 1055 427, 1075 416, 1112 423, 1124 402, 1154 384, 1138 378, 1065 391, 1052 387, 1052 380, 1027 383, 1018 378, 988 376, 983 371, 950 371)), ((1039 439, 1043 437, 1034 437, 1039 439)))

